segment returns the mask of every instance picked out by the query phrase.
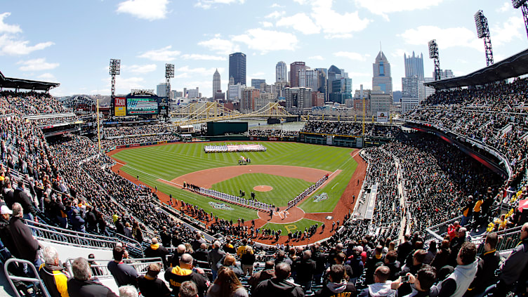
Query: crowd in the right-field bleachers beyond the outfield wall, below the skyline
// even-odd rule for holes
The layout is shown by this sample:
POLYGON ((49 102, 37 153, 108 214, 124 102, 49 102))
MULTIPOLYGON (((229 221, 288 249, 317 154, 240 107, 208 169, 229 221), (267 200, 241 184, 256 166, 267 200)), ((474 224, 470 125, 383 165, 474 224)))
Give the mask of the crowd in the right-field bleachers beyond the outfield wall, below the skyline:
MULTIPOLYGON (((359 121, 308 121, 301 132, 361 136, 363 124, 359 121)), ((395 138, 400 132, 400 126, 365 123, 365 136, 395 138)))

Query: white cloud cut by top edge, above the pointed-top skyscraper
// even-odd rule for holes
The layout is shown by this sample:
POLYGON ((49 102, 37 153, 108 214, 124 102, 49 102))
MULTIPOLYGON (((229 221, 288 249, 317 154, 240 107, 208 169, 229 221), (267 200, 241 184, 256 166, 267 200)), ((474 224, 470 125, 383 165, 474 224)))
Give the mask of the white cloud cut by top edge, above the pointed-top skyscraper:
POLYGON ((388 20, 389 13, 416 11, 438 6, 444 0, 355 0, 357 6, 367 8, 371 13, 381 15, 388 20))

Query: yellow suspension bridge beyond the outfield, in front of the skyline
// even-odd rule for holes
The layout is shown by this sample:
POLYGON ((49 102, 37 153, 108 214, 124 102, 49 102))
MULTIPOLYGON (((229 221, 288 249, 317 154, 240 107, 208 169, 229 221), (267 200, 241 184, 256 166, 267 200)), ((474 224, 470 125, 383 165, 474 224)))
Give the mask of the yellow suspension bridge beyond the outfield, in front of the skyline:
POLYGON ((171 117, 178 118, 178 121, 174 121, 176 126, 185 126, 193 124, 202 124, 208 121, 226 121, 229 119, 244 119, 244 118, 255 118, 255 117, 275 117, 275 118, 287 118, 287 117, 298 117, 295 114, 290 114, 284 110, 284 107, 279 103, 268 103, 260 110, 256 110, 250 113, 241 113, 236 110, 228 110, 223 104, 217 102, 207 103, 190 103, 184 107, 180 107, 177 110, 171 112, 171 117))

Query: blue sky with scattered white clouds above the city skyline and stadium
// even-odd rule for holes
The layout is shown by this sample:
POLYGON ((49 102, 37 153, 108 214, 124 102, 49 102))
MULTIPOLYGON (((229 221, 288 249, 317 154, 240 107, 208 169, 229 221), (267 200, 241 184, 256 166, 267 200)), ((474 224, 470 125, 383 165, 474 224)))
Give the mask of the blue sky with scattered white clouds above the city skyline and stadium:
POLYGON ((212 95, 213 73, 228 83, 228 57, 247 55, 246 81, 275 82, 275 65, 336 65, 352 90, 371 88, 381 50, 401 90, 404 53, 423 53, 436 39, 440 67, 456 76, 486 66, 473 15, 489 22, 494 60, 527 48, 522 13, 510 0, 91 0, 2 1, 0 72, 60 83, 51 93, 110 94, 111 58, 121 59, 117 93, 155 89, 165 63, 176 65, 171 88, 212 95))

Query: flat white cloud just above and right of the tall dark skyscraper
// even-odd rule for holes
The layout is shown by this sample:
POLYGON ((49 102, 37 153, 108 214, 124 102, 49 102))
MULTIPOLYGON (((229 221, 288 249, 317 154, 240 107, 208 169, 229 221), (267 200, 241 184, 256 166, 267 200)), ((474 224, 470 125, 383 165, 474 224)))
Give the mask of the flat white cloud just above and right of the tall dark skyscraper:
POLYGON ((232 40, 246 44, 260 53, 268 53, 270 51, 293 51, 298 44, 297 37, 291 33, 278 32, 265 29, 249 29, 246 34, 232 37, 232 40))

